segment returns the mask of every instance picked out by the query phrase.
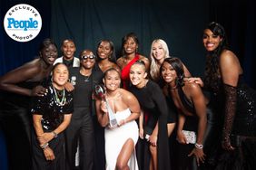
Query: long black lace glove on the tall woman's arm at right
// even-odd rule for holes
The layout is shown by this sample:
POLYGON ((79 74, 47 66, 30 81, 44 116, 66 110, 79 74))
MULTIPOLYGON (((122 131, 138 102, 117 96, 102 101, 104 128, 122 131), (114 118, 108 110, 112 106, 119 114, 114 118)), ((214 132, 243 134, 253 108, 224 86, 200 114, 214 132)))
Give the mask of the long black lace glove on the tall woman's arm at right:
POLYGON ((222 129, 222 147, 225 150, 231 150, 231 129, 236 112, 237 88, 223 84, 226 95, 225 99, 225 118, 222 129))

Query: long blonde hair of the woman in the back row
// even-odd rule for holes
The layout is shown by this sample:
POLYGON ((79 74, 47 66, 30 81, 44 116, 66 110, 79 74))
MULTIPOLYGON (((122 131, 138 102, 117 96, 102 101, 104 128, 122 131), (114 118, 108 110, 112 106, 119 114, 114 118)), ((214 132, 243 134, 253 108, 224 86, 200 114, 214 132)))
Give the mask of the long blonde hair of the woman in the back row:
POLYGON ((164 42, 162 39, 155 39, 155 40, 152 42, 152 45, 151 45, 151 52, 150 52, 150 60, 151 60, 150 75, 151 75, 151 78, 152 78, 153 80, 159 80, 159 76, 160 76, 160 66, 161 66, 161 65, 158 65, 158 64, 157 64, 157 62, 155 61, 155 58, 153 57, 153 44, 156 43, 156 42, 160 43, 161 46, 162 46, 162 49, 163 49, 163 52, 164 52, 164 59, 170 58, 167 43, 164 42))

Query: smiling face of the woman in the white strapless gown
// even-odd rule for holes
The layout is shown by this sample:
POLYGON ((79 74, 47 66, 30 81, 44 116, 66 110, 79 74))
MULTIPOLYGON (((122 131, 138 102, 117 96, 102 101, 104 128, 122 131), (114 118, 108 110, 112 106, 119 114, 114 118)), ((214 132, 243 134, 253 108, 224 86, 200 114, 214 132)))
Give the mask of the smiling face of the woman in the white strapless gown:
POLYGON ((121 78, 120 74, 116 70, 110 70, 105 72, 103 83, 107 90, 117 90, 120 87, 121 78))

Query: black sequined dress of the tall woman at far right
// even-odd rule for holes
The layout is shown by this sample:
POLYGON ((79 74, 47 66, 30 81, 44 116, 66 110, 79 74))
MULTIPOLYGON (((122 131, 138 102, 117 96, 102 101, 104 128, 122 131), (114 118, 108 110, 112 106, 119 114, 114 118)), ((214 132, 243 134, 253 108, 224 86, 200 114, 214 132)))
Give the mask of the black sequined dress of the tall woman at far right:
POLYGON ((240 76, 237 87, 229 87, 221 83, 218 91, 212 91, 212 109, 218 113, 217 125, 219 127, 219 139, 215 138, 215 142, 219 141, 217 166, 215 169, 228 170, 251 170, 255 169, 256 162, 256 91, 249 88, 242 81, 240 76), (226 87, 225 87, 226 86, 226 87), (229 107, 229 90, 233 89, 234 94, 230 98, 235 102, 234 107, 229 107), (226 110, 225 110, 226 109, 226 110), (227 111, 228 110, 228 111, 227 111), (225 130, 223 129, 224 118, 229 115, 228 112, 234 111, 233 123, 231 125, 231 146, 233 151, 225 151, 221 147, 221 140, 225 130))

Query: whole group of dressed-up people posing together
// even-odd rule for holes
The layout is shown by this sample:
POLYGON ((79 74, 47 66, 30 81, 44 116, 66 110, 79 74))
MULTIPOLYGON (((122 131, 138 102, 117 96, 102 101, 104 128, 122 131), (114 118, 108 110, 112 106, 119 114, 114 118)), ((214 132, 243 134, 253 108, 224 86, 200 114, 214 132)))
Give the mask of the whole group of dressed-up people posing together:
POLYGON ((256 92, 221 24, 207 25, 202 44, 205 76, 197 78, 162 39, 147 58, 128 33, 117 60, 109 40, 79 58, 64 40, 57 59, 45 39, 37 59, 0 78, 9 169, 253 169, 256 92))

